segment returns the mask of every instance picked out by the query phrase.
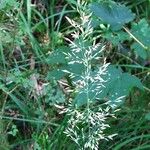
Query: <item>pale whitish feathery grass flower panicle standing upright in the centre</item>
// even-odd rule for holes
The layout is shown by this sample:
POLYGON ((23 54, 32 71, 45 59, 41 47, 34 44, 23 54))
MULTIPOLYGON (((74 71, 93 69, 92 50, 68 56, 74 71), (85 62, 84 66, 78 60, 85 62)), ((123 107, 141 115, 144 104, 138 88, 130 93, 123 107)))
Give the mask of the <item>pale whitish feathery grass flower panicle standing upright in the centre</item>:
MULTIPOLYGON (((78 5, 80 6, 80 5, 78 5)), ((86 4, 82 5, 86 6, 86 4)), ((73 84, 76 87, 76 101, 71 103, 65 112, 69 116, 68 125, 64 133, 70 137, 80 149, 97 150, 99 140, 112 139, 114 135, 106 136, 104 130, 109 127, 106 123, 108 117, 114 117, 111 113, 108 102, 103 103, 104 107, 94 105, 101 93, 103 83, 107 82, 103 76, 107 74, 108 63, 105 59, 99 67, 93 69, 93 62, 99 61, 105 49, 101 44, 96 43, 93 37, 91 26, 91 14, 86 15, 85 9, 77 9, 80 14, 80 23, 69 19, 69 23, 75 28, 72 33, 73 41, 70 42, 71 51, 65 53, 70 66, 80 66, 79 72, 74 70, 63 70, 70 74, 73 84)))

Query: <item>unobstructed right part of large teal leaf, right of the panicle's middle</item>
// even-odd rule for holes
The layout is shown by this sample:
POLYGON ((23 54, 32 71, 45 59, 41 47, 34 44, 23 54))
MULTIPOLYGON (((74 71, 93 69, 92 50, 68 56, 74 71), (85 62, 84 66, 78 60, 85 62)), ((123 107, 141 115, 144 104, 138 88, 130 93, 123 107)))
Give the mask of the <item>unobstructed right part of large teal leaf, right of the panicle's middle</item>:
POLYGON ((100 97, 106 96, 111 101, 111 104, 120 105, 125 100, 125 97, 119 103, 116 100, 122 96, 128 96, 133 87, 143 89, 143 85, 140 80, 128 73, 123 73, 121 70, 114 66, 109 66, 108 74, 105 78, 109 78, 108 82, 104 84, 104 92, 100 93, 100 97), (106 92, 107 91, 107 92, 106 92), (102 95, 101 95, 102 94, 102 95))

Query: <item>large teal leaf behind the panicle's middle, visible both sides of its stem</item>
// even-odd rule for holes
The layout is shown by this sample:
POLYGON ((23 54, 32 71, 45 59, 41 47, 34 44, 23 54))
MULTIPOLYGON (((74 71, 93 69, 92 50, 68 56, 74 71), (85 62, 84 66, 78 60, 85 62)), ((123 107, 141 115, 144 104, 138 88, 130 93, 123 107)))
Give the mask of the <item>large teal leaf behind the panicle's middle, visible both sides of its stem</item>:
MULTIPOLYGON (((94 72, 94 74, 97 72, 94 72)), ((107 74, 102 76, 105 82, 103 86, 100 87, 100 93, 96 94, 92 91, 95 91, 98 83, 95 85, 90 84, 90 92, 89 97, 93 101, 95 100, 109 100, 109 104, 112 107, 119 106, 122 104, 129 95, 130 91, 137 87, 143 90, 143 85, 141 81, 135 77, 130 75, 129 73, 123 73, 121 69, 117 69, 114 66, 109 66, 107 69, 107 74)), ((86 103, 84 99, 86 99, 86 89, 82 89, 82 92, 79 92, 75 97, 75 104, 83 105, 86 103)))

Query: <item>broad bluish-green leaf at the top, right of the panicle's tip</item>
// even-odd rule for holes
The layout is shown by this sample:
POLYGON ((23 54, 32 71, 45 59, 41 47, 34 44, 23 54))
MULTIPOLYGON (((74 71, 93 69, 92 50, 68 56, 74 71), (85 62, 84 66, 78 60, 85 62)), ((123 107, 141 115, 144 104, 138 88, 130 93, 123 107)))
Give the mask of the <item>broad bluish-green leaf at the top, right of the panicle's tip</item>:
POLYGON ((114 30, 119 30, 122 26, 134 19, 134 14, 124 5, 115 2, 92 3, 91 11, 104 23, 110 24, 114 30))

